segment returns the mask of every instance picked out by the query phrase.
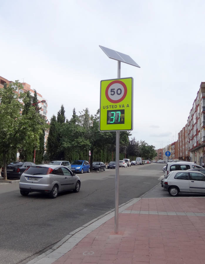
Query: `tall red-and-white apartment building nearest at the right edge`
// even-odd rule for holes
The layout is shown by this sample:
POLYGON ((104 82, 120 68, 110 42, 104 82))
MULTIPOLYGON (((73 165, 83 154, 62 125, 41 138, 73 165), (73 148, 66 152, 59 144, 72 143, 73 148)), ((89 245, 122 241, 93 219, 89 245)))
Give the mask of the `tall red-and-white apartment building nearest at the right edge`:
POLYGON ((199 91, 187 119, 188 149, 190 160, 200 164, 205 158, 205 82, 199 91))

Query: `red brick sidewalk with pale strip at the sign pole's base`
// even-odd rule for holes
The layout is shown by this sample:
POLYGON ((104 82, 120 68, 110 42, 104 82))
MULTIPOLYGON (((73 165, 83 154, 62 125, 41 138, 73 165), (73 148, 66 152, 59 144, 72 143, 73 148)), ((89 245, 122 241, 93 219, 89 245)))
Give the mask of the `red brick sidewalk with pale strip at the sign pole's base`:
POLYGON ((140 199, 119 213, 118 234, 114 228, 113 217, 53 263, 205 263, 204 197, 140 199))

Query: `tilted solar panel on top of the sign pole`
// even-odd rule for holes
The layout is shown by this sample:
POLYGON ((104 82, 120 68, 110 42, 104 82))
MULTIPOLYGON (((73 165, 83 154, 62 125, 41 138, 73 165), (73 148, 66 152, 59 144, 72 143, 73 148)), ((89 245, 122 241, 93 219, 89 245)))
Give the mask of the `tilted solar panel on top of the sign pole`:
POLYGON ((121 62, 140 68, 140 66, 134 60, 132 60, 132 58, 129 55, 126 55, 119 51, 111 50, 109 48, 100 45, 99 47, 103 50, 103 52, 107 55, 108 58, 113 60, 119 60, 121 62))

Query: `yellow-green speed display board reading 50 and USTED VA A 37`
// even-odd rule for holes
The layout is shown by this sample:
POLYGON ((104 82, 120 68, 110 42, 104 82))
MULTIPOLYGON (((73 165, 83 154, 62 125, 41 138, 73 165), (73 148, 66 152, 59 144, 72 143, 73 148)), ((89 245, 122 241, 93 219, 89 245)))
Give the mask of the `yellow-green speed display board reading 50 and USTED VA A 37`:
POLYGON ((100 82, 100 131, 133 129, 133 78, 100 82))

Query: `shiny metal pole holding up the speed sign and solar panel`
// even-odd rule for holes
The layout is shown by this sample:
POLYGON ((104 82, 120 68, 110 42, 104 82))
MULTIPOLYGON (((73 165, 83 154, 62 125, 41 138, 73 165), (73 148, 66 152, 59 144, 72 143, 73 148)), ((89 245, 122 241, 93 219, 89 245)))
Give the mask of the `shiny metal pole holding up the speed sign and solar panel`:
MULTIPOLYGON (((120 61, 117 61, 117 78, 120 78, 120 61)), ((120 159, 120 131, 116 131, 115 146, 115 233, 118 233, 119 207, 119 159, 120 159)))

